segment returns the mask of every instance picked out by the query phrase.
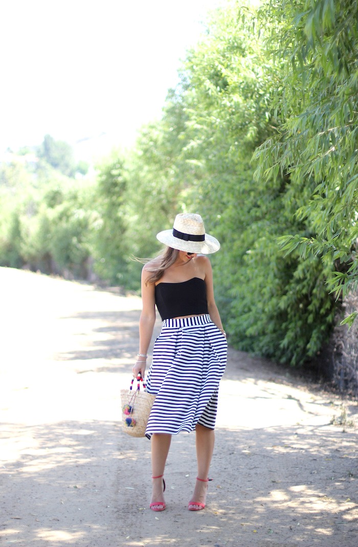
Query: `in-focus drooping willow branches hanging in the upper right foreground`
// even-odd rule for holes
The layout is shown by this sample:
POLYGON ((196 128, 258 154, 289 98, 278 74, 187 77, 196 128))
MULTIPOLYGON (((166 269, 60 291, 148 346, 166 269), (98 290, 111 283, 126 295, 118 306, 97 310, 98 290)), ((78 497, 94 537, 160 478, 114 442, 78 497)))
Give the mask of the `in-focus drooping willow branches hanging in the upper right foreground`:
POLYGON ((285 68, 284 94, 273 97, 280 123, 256 151, 256 178, 288 174, 305 193, 296 217, 314 235, 291 232, 282 249, 333 265, 328 287, 344 297, 358 282, 358 4, 269 1, 261 24, 285 68))

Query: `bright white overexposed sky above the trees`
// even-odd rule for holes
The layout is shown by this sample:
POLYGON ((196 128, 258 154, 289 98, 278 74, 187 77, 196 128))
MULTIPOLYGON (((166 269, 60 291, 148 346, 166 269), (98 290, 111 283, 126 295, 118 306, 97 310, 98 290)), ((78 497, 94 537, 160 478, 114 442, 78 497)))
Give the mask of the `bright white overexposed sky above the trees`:
POLYGON ((225 0, 7 0, 0 9, 0 153, 45 133, 125 146, 158 117, 207 10, 225 0))

